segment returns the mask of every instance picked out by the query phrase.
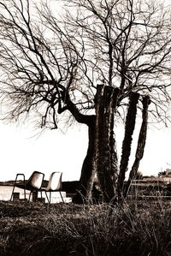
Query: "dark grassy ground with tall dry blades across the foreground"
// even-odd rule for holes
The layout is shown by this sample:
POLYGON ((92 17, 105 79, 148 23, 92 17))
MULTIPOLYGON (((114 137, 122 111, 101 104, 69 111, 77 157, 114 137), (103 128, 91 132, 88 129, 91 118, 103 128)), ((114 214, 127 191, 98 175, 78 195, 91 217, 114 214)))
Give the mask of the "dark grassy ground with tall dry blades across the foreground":
POLYGON ((0 202, 0 255, 171 255, 171 202, 0 202))

